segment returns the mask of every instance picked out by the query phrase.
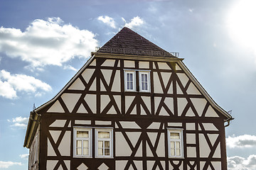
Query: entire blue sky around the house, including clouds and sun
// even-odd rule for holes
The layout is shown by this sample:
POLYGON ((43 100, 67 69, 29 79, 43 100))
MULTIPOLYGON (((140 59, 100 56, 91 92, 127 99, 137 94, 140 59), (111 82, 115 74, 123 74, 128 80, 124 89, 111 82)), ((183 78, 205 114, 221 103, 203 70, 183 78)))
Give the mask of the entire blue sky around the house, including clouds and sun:
POLYGON ((0 169, 28 169, 28 115, 127 26, 169 52, 235 118, 230 170, 256 169, 253 0, 0 0, 0 169))

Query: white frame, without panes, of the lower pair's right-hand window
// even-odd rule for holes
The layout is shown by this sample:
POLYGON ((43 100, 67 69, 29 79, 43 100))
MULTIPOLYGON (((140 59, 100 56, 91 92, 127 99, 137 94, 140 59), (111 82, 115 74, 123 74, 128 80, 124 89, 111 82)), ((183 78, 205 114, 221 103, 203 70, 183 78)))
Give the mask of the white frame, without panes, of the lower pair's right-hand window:
MULTIPOLYGON (((105 144, 104 144, 105 145, 105 144)), ((105 152, 103 146, 103 153, 105 152)), ((113 158, 113 129, 112 128, 96 128, 95 129, 95 157, 97 158, 113 158), (100 141, 110 141, 110 155, 98 155, 98 132, 110 132, 109 139, 100 139, 100 141)))

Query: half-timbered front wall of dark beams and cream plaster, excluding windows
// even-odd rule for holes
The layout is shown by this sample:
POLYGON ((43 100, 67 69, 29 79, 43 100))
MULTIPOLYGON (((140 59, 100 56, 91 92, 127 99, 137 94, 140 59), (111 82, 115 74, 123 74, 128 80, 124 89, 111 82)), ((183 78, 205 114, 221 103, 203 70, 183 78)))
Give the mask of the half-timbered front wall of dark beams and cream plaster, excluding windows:
POLYGON ((41 169, 226 167, 225 118, 177 63, 95 57, 41 112, 41 169), (139 70, 148 70, 149 92, 125 91, 126 69, 135 70, 136 89, 139 70), (113 157, 95 158, 95 149, 74 157, 74 127, 113 128, 113 157), (168 128, 183 129, 182 158, 169 157, 168 128))

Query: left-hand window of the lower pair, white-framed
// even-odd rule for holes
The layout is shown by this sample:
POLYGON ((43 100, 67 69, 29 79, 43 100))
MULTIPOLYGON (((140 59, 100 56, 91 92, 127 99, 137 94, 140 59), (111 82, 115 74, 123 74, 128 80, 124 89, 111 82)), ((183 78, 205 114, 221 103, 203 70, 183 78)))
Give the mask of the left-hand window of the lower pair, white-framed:
POLYGON ((74 157, 92 157, 91 152, 91 134, 90 128, 74 129, 74 157))

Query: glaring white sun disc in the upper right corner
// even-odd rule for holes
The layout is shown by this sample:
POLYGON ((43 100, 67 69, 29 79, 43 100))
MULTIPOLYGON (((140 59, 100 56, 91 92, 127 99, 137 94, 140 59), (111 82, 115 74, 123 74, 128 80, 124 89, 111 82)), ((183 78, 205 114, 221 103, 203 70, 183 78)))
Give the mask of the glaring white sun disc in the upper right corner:
POLYGON ((240 45, 256 51, 256 1, 240 0, 228 12, 228 31, 240 45))

